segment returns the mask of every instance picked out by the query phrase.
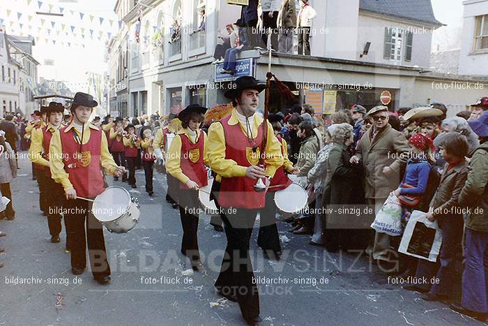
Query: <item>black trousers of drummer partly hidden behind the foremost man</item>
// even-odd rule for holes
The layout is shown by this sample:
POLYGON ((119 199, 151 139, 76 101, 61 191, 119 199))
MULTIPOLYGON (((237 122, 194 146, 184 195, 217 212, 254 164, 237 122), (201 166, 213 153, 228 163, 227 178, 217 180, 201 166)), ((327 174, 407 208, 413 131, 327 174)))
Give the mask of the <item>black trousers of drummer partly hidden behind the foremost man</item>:
POLYGON ((275 192, 266 193, 266 204, 261 209, 257 245, 265 251, 281 251, 280 236, 276 226, 275 192))

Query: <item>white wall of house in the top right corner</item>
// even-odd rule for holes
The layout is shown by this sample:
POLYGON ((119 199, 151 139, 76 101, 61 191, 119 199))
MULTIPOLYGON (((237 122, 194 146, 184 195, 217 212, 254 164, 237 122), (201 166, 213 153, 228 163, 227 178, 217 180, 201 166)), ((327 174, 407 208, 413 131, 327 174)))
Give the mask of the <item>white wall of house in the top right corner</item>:
POLYGON ((475 17, 488 14, 488 1, 464 1, 459 74, 488 75, 488 50, 473 52, 475 17))

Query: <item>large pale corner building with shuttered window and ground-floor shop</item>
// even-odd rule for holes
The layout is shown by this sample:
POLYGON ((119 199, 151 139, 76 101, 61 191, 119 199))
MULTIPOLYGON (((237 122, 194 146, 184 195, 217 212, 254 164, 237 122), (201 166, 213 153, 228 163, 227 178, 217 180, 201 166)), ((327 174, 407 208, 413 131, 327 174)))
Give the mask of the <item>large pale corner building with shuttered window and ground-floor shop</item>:
MULTIPOLYGON (((429 0, 314 0, 310 4, 317 10, 312 56, 273 52, 271 57, 273 73, 296 94, 296 100, 287 100, 273 87, 271 110, 303 101, 312 103, 317 114, 354 103, 367 108, 384 103, 396 110, 441 101, 456 112, 485 95, 488 79, 484 77, 429 71, 432 31, 442 26, 429 0)), ((228 103, 224 91, 238 75, 219 73, 220 64, 212 64, 213 51, 218 33, 240 16, 241 7, 225 0, 143 0, 129 6, 123 16, 124 32, 112 45, 126 41, 128 47, 125 115, 177 113, 192 103, 207 107, 228 103)), ((241 73, 266 80, 268 54, 243 51, 238 64, 241 73)), ((262 110, 264 101, 260 103, 262 110)))

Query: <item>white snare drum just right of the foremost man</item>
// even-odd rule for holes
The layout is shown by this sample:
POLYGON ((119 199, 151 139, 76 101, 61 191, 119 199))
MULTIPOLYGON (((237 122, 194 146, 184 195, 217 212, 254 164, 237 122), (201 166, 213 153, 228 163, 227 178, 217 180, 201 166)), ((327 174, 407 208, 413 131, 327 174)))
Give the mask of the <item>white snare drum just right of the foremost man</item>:
POLYGON ((287 188, 275 192, 275 204, 285 215, 298 214, 307 207, 307 191, 299 184, 290 184, 287 188))

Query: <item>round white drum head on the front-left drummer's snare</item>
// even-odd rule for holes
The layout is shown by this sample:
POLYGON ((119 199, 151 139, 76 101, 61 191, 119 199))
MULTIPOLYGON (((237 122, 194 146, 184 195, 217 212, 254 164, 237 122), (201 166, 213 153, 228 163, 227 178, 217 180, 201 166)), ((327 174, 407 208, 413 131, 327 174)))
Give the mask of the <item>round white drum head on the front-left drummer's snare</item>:
POLYGON ((130 193, 122 187, 109 187, 93 202, 91 211, 100 222, 112 222, 126 214, 130 207, 130 193))

